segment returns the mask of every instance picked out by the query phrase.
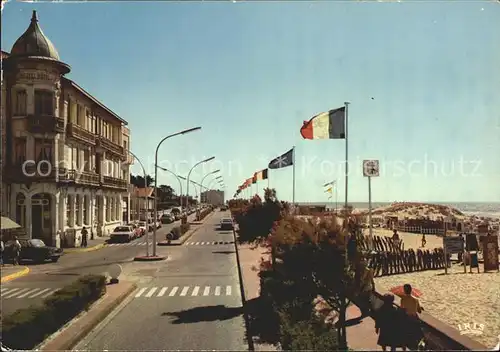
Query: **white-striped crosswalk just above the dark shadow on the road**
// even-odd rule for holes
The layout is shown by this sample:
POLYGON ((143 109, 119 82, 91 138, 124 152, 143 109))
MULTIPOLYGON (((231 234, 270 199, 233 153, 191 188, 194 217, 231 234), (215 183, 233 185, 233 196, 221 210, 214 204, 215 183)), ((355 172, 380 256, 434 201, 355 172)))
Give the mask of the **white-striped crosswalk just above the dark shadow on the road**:
POLYGON ((135 292, 135 298, 232 296, 235 292, 230 285, 142 287, 135 292))

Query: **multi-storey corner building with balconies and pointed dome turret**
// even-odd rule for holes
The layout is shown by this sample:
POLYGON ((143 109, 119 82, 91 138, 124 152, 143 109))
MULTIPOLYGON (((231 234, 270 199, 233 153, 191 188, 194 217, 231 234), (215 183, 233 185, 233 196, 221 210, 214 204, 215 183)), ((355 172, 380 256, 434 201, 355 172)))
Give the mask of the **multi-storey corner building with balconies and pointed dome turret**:
POLYGON ((127 122, 66 77, 36 11, 2 64, 2 215, 58 247, 128 220, 127 122))

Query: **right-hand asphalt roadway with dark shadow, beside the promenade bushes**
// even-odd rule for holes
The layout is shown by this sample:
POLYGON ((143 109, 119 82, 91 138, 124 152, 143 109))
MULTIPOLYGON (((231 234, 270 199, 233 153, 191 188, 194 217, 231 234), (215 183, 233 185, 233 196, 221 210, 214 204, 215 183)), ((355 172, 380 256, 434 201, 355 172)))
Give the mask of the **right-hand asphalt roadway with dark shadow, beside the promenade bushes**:
POLYGON ((137 290, 75 350, 248 350, 233 234, 218 230, 222 216, 189 239, 198 245, 163 247, 168 261, 127 265, 137 290))

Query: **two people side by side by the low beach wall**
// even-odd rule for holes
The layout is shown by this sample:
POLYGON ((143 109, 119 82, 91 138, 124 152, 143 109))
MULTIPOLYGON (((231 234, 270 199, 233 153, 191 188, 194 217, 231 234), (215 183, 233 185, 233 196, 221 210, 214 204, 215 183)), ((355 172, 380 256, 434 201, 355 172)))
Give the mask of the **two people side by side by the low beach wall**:
POLYGON ((423 311, 419 300, 412 295, 410 284, 404 285, 404 295, 400 307, 394 305, 394 296, 383 296, 382 307, 375 312, 375 332, 378 334, 378 345, 386 351, 396 348, 418 349, 423 339, 418 314, 423 311))

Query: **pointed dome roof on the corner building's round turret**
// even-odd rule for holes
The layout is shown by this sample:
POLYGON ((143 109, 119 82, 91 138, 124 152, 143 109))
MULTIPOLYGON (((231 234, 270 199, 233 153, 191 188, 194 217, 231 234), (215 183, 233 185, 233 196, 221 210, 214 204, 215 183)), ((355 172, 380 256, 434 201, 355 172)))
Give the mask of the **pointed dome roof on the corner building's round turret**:
POLYGON ((40 26, 38 26, 36 11, 33 11, 28 29, 12 46, 11 55, 46 57, 59 61, 59 54, 54 44, 43 34, 40 26))

